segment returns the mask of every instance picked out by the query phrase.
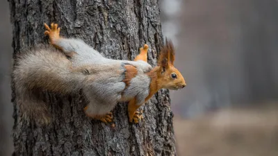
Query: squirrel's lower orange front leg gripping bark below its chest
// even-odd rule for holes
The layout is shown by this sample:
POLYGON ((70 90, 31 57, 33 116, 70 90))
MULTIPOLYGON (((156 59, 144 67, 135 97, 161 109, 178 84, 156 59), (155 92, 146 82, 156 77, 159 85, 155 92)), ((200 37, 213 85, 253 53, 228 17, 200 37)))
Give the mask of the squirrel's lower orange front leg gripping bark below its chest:
POLYGON ((138 107, 140 107, 140 105, 136 104, 136 98, 133 98, 131 101, 129 101, 129 105, 128 105, 129 122, 132 123, 134 121, 134 123, 139 123, 139 121, 143 119, 142 111, 141 112, 136 111, 138 107))

